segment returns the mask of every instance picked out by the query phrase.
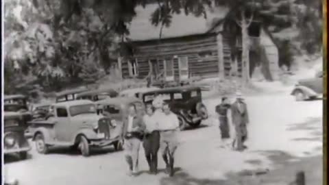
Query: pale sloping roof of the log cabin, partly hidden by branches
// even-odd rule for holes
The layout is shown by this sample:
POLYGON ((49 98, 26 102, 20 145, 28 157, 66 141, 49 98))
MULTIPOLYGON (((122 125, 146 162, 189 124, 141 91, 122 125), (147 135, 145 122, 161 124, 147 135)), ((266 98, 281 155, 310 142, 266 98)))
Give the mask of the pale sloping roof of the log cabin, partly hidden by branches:
MULTIPOLYGON (((157 4, 146 5, 145 8, 136 7, 136 17, 133 18, 130 24, 130 36, 132 41, 155 40, 159 38, 160 25, 155 27, 149 21, 151 13, 158 8, 157 4)), ((206 10, 207 18, 204 16, 196 17, 193 14, 186 14, 184 10, 180 14, 173 14, 170 27, 162 29, 161 38, 176 38, 182 36, 191 36, 206 34, 212 26, 214 21, 223 20, 228 14, 228 8, 221 7, 216 10, 206 10)))

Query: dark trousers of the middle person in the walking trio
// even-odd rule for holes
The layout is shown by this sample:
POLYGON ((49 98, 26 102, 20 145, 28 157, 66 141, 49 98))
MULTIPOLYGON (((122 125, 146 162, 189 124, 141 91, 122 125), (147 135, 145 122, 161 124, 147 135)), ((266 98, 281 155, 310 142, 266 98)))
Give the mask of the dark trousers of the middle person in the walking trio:
POLYGON ((143 140, 143 147, 145 149, 147 163, 149 164, 149 171, 151 173, 157 173, 160 132, 154 131, 151 134, 146 134, 143 140))

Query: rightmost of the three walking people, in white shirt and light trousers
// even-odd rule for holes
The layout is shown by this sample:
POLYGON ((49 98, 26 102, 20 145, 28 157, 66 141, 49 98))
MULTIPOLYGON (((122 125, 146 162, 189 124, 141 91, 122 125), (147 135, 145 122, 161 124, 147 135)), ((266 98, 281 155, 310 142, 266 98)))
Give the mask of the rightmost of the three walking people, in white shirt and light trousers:
POLYGON ((160 120, 160 151, 166 163, 166 173, 173 176, 174 154, 178 147, 178 132, 180 124, 178 116, 171 112, 168 103, 163 103, 163 116, 160 120))

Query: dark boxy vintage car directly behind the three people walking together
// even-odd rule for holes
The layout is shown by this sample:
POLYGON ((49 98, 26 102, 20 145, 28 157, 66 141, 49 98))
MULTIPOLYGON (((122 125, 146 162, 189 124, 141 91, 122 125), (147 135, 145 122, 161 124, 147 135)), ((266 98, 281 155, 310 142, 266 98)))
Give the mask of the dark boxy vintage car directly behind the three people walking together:
POLYGON ((197 127, 202 120, 208 119, 208 111, 202 103, 202 90, 196 86, 180 86, 153 90, 143 94, 143 103, 151 103, 158 95, 164 99, 171 110, 178 115, 180 129, 186 124, 197 127))

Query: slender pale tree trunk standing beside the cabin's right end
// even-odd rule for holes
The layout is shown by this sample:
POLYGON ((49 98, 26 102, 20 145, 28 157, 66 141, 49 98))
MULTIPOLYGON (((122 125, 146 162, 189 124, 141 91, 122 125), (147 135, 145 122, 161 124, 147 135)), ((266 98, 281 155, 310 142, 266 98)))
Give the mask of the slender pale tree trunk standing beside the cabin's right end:
POLYGON ((242 34, 242 77, 243 77, 243 85, 245 85, 248 84, 250 81, 249 36, 248 36, 248 25, 245 18, 245 10, 241 11, 241 34, 242 34))

